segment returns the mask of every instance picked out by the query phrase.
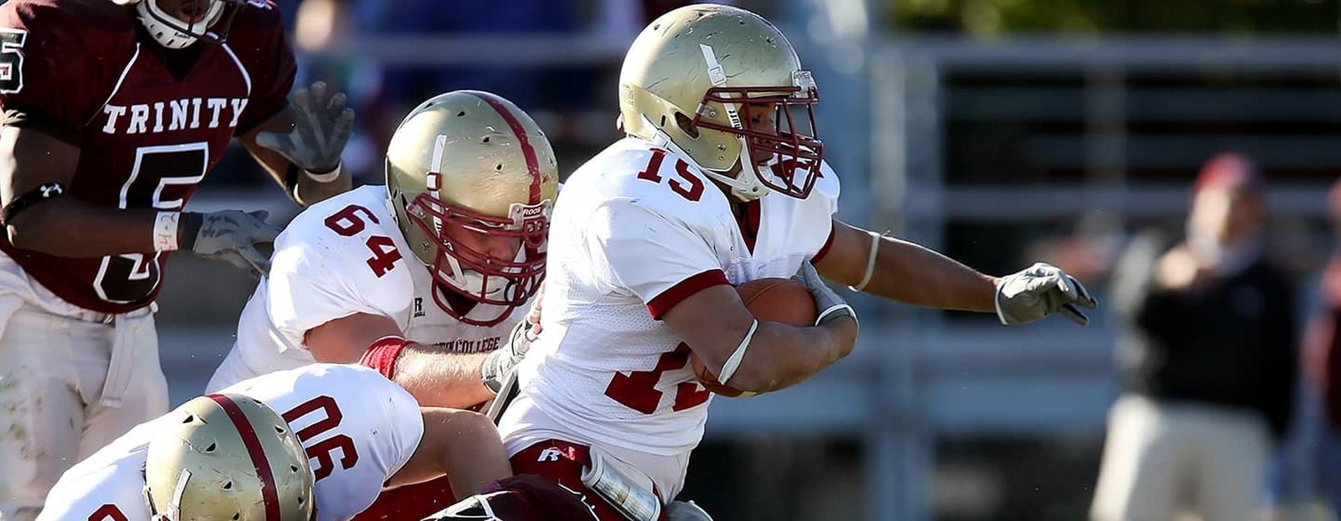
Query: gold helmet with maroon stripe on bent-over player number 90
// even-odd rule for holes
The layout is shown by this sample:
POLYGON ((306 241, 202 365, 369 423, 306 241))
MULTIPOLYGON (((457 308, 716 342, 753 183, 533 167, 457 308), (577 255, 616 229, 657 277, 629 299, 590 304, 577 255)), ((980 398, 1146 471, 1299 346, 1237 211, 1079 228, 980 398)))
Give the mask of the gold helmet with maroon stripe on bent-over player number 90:
POLYGON ((312 471, 288 423, 260 400, 212 394, 169 413, 149 441, 156 521, 310 521, 312 471))

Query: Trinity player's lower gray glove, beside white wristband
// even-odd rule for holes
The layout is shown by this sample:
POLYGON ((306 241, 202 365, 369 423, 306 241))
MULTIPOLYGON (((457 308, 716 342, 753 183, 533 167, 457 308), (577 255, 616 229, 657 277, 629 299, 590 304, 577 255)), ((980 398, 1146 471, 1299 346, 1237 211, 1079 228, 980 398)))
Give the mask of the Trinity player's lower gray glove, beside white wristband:
POLYGON ((185 212, 181 249, 227 261, 253 276, 270 273, 270 254, 282 230, 266 222, 268 216, 266 210, 185 212))

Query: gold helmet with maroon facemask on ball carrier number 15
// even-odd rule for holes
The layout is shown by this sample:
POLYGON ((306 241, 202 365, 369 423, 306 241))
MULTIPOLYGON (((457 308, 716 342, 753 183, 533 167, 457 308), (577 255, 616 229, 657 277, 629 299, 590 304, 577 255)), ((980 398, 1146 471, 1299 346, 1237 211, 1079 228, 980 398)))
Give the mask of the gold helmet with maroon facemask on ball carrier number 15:
POLYGON ((770 190, 810 194, 823 158, 817 102, 815 82, 787 38, 730 5, 661 15, 633 40, 620 71, 624 130, 648 141, 664 134, 746 201, 770 190), (751 127, 759 110, 772 113, 774 129, 751 127))

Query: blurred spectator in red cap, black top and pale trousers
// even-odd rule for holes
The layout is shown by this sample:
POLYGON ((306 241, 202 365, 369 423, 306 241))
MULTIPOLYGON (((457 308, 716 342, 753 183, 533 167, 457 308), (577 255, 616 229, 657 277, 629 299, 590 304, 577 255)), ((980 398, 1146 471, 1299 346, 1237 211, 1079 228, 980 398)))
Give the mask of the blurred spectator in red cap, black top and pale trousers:
POLYGON ((1128 320, 1090 516, 1244 520, 1262 506, 1266 467, 1290 423, 1294 297, 1263 256, 1265 179, 1222 154, 1193 186, 1187 238, 1136 240, 1114 273, 1128 320))

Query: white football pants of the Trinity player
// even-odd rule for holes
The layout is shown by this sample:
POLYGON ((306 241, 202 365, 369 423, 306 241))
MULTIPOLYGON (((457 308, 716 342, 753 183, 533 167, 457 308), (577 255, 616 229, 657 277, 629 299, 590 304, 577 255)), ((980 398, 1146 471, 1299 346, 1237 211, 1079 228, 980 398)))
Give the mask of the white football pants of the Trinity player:
POLYGON ((152 308, 76 308, 0 253, 0 521, 35 520, 66 469, 168 411, 152 308))

